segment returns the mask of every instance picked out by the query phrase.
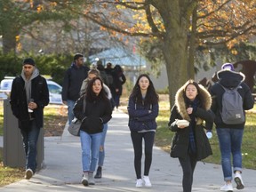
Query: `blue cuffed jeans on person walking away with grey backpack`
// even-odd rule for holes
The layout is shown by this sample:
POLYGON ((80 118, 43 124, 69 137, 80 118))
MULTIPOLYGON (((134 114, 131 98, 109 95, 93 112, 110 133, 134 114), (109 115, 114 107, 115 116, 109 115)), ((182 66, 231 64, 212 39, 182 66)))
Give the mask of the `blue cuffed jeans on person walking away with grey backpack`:
POLYGON ((233 171, 242 172, 242 139, 244 129, 218 128, 217 134, 220 143, 221 165, 224 180, 232 180, 231 154, 233 156, 233 171))

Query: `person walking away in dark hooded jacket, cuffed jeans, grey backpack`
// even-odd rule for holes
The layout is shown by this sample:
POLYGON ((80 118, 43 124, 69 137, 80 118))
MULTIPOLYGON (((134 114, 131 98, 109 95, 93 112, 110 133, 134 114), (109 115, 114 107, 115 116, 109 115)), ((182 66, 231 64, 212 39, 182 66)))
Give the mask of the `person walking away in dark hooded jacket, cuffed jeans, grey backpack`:
MULTIPOLYGON (((215 114, 214 124, 218 135, 220 153, 221 153, 221 166, 224 176, 225 185, 220 188, 221 191, 233 191, 232 180, 234 172, 234 180, 237 189, 244 188, 242 180, 242 139, 244 134, 244 124, 225 124, 221 117, 222 112, 222 99, 225 89, 236 89, 242 97, 243 106, 241 106, 243 113, 244 110, 253 108, 254 100, 252 92, 247 84, 244 83, 244 74, 236 72, 232 63, 225 63, 222 65, 220 71, 217 72, 218 83, 212 85, 212 112, 215 114), (231 164, 231 155, 233 158, 233 172, 231 164)), ((243 114, 245 116, 245 113, 243 114)), ((234 121, 235 122, 235 121, 234 121)))

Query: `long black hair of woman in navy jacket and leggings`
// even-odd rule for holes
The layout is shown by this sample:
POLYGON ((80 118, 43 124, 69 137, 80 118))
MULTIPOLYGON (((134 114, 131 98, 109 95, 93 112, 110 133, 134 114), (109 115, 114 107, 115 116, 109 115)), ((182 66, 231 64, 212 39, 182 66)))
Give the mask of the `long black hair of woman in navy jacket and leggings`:
POLYGON ((148 90, 147 90, 147 94, 146 94, 146 97, 144 99, 144 104, 156 104, 159 100, 159 96, 158 94, 156 93, 156 90, 155 90, 155 87, 154 87, 154 84, 153 82, 151 81, 150 77, 147 75, 147 74, 141 74, 133 89, 132 89, 132 93, 130 95, 130 98, 132 100, 134 100, 135 102, 137 103, 142 103, 142 94, 140 92, 140 85, 139 85, 139 82, 140 82, 140 78, 145 76, 146 78, 148 78, 148 81, 149 81, 149 85, 148 85, 148 90))

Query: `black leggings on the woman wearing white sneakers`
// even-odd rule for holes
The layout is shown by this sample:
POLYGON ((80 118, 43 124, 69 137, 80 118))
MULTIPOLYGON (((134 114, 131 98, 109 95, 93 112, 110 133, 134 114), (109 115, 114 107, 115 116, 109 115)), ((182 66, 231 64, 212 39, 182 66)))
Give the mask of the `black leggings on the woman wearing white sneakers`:
POLYGON ((131 132, 131 137, 134 149, 134 168, 137 179, 141 179, 142 139, 144 139, 145 146, 144 175, 148 176, 152 163, 152 150, 155 140, 155 132, 131 132))

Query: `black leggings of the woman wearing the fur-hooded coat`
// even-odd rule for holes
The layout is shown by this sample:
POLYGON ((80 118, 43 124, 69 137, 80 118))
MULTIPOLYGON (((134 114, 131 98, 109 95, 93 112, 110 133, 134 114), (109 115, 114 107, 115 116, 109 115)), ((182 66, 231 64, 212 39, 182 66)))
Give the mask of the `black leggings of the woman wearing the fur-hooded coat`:
POLYGON ((193 174, 196 168, 196 155, 188 154, 186 159, 179 158, 183 171, 182 187, 183 192, 191 192, 193 183, 193 174))

